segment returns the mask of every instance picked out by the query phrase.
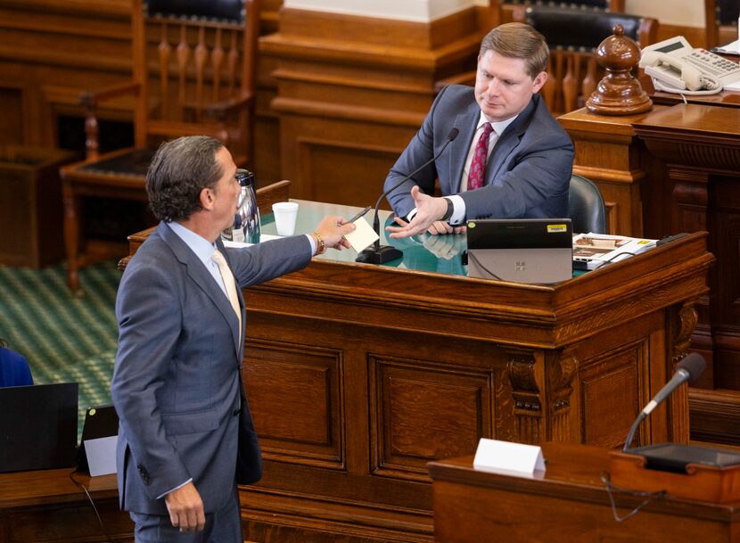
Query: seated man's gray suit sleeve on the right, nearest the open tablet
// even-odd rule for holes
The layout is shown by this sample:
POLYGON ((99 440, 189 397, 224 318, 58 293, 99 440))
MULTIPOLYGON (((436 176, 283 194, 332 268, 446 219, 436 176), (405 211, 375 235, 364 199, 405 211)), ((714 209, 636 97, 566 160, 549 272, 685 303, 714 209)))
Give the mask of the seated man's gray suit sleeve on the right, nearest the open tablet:
POLYGON ((574 156, 570 137, 539 123, 530 126, 528 134, 538 141, 522 145, 525 149, 513 168, 491 185, 460 193, 466 218, 531 217, 530 211, 544 202, 567 197, 574 156))

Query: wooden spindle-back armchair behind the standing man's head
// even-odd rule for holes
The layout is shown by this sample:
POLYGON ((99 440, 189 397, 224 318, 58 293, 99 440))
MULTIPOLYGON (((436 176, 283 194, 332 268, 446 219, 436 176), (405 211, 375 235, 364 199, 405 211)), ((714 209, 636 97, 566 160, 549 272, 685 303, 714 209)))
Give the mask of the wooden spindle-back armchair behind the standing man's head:
MULTIPOLYGON (((133 79, 84 93, 86 160, 64 167, 67 283, 78 268, 125 254, 125 244, 86 240, 83 196, 146 201, 144 178, 157 146, 179 136, 209 135, 238 165, 252 155, 255 62, 260 0, 134 0, 133 79), (133 94, 135 146, 98 152, 97 107, 133 94)), ((146 225, 140 225, 146 226, 146 225)))

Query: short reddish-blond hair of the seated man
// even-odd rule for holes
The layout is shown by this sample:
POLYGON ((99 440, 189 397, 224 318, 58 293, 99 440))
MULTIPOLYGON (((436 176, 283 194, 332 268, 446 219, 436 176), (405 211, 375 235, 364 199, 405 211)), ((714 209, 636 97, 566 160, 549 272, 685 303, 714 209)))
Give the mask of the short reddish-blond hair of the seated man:
POLYGON ((527 61, 527 73, 536 78, 539 72, 547 70, 547 57, 550 49, 545 37, 523 22, 507 22, 491 30, 481 42, 481 57, 494 51, 514 59, 527 61))

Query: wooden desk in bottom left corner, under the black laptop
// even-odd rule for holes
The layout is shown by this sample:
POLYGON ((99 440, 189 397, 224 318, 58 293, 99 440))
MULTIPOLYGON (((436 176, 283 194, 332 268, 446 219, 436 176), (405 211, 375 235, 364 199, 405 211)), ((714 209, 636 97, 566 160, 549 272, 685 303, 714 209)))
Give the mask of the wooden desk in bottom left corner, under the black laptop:
MULTIPOLYGON (((106 539, 85 492, 70 481, 71 468, 0 473, 0 542, 62 543, 106 539)), ((111 540, 134 540, 134 524, 119 511, 115 475, 76 474, 95 500, 111 540)))

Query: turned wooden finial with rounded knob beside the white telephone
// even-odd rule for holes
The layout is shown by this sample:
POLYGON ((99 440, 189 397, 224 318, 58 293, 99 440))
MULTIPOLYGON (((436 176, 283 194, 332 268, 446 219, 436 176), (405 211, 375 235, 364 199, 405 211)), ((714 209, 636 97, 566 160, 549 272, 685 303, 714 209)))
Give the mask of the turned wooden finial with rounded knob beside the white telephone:
POLYGON ((607 73, 588 98, 589 111, 602 115, 634 115, 653 107, 653 101, 630 73, 640 60, 640 49, 634 40, 624 36, 621 25, 616 25, 613 36, 598 46, 596 57, 607 73))

